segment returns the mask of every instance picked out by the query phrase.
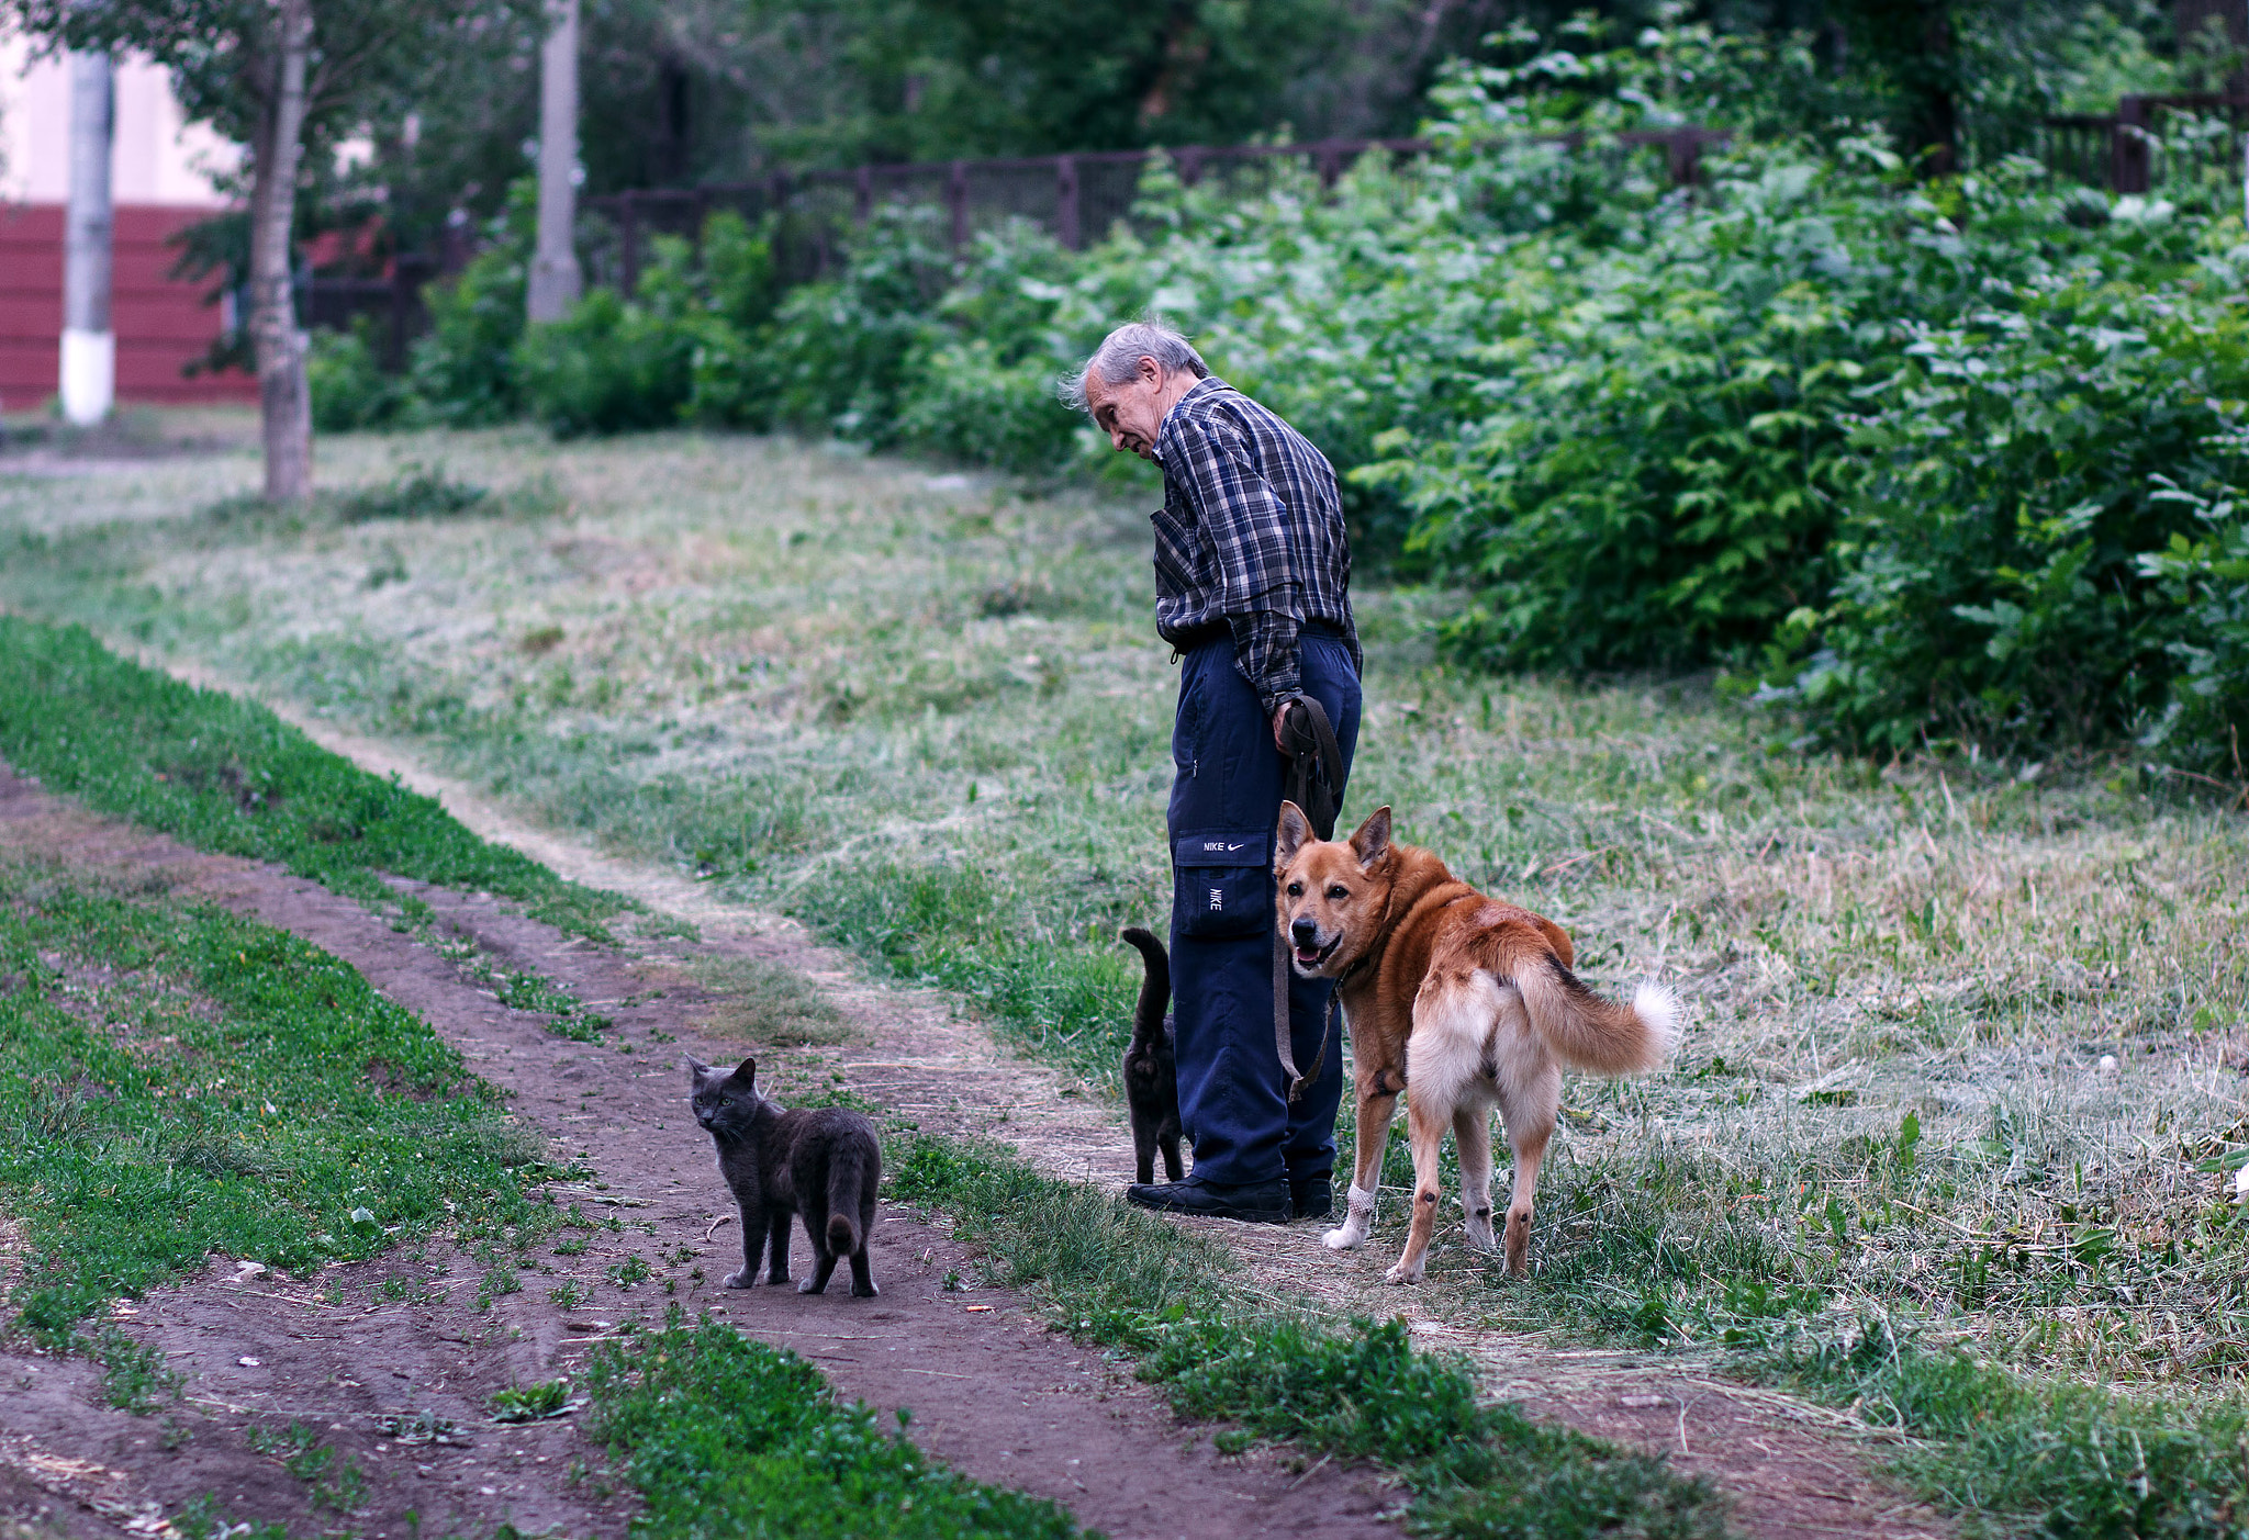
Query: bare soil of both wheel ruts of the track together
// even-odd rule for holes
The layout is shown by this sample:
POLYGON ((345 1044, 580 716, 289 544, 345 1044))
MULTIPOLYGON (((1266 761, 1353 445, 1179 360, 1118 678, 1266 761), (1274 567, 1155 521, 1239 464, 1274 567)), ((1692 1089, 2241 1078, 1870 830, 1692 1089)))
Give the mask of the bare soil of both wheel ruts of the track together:
MULTIPOLYGON (((600 1466, 573 1419, 499 1428, 486 1407, 508 1383, 571 1376, 591 1342, 679 1302, 807 1356, 848 1398, 911 1407, 911 1437, 931 1455, 978 1479, 1055 1497, 1080 1522, 1118 1538, 1397 1533, 1385 1515, 1397 1513, 1399 1495, 1370 1473, 1329 1464, 1304 1470, 1275 1452, 1221 1457, 1210 1428, 1178 1423, 1102 1353, 1046 1331, 1026 1299, 949 1288, 949 1277, 974 1281, 974 1259, 942 1223, 915 1212, 882 1214, 873 1243, 879 1299, 848 1299, 839 1288, 816 1299, 715 1288, 738 1263, 740 1239, 708 1144, 681 1104, 677 1054, 724 1061, 744 1045, 702 1030, 715 996, 688 982, 697 955, 756 955, 801 969, 855 1027, 843 1048, 760 1054, 765 1075, 783 1084, 841 1084, 888 1115, 1005 1140, 1053 1174, 1100 1185, 1129 1180, 1129 1140, 1118 1113, 1084 1086, 1008 1057, 942 996, 870 982, 794 922, 556 839, 385 744, 326 724, 299 726, 367 769, 398 771, 441 796, 486 839, 693 922, 697 937, 650 926, 607 951, 490 897, 398 884, 502 967, 526 962, 598 1003, 614 1027, 589 1045, 547 1032, 542 1016, 502 1007, 457 964, 358 904, 268 866, 198 854, 97 818, 4 767, 0 854, 162 881, 346 958, 430 1021, 477 1075, 508 1090, 515 1113, 553 1138, 558 1158, 600 1174, 558 1187, 558 1201, 623 1228, 596 1230, 582 1254, 544 1259, 553 1277, 526 1272, 524 1290, 493 1299, 488 1311, 475 1302, 481 1268, 436 1257, 436 1261, 454 1263, 436 1279, 430 1263, 400 1257, 313 1279, 238 1277, 229 1259, 214 1259, 200 1279, 119 1315, 124 1329, 191 1376, 171 1416, 99 1410, 90 1394, 97 1371, 83 1360, 0 1356, 9 1385, 0 1398, 0 1518, 45 1513, 67 1533, 148 1536, 166 1533, 164 1515, 209 1493, 232 1518, 283 1518, 292 1529, 335 1524, 333 1511, 313 1506, 317 1482, 290 1475, 279 1455, 250 1443, 254 1432, 297 1419, 322 1432, 337 1464, 349 1459, 362 1473, 364 1495, 351 1522, 362 1536, 405 1536, 409 1511, 423 1533, 481 1533, 499 1522, 526 1533, 623 1533, 625 1495, 607 1493, 598 1473, 567 1479, 600 1466), (648 1261, 652 1277, 618 1288, 609 1270, 632 1254, 648 1261), (385 1277, 430 1299, 376 1306, 371 1290, 385 1277), (558 1306, 547 1295, 562 1284, 587 1288, 591 1299, 558 1306), (351 1304, 331 1304, 337 1297, 351 1304), (403 1437, 398 1419, 407 1419, 403 1437), (443 1441, 427 1441, 448 1423, 443 1441)), ((1275 1295, 1302 1295, 1307 1279, 1327 1279, 1313 1288, 1318 1295, 1347 1293, 1361 1261, 1322 1252, 1318 1225, 1208 1230, 1244 1257, 1250 1286, 1275 1295)), ((1939 1515, 1880 1484, 1869 1434, 1846 1416, 1698 1367, 1462 1331, 1421 1315, 1410 1297, 1388 1299, 1385 1313, 1403 1311, 1419 1340, 1473 1358, 1496 1396, 1597 1437, 1664 1450, 1678 1468, 1707 1475, 1732 1495, 1736 1524, 1750 1536, 1950 1533, 1939 1515)))

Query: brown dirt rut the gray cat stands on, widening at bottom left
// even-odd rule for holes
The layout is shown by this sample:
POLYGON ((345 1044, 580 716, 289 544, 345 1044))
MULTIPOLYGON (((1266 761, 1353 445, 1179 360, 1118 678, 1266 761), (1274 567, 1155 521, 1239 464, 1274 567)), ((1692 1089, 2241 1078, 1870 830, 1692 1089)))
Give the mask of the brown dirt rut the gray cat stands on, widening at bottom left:
MULTIPOLYGON (((1273 1457, 1223 1459, 1151 1389, 1098 1351, 1048 1333, 1021 1297, 949 1290, 947 1275, 974 1279, 972 1259, 913 1212, 884 1210, 873 1241, 884 1288, 877 1302, 717 1290, 740 1241, 708 1140, 684 1113, 677 1052, 726 1057, 740 1045, 695 1030, 713 996, 675 982, 654 994, 648 973, 688 951, 787 960, 787 940, 706 928, 695 946, 612 953, 490 899, 412 888, 484 951, 535 962, 580 998, 605 1003, 616 1025, 594 1045, 502 1007, 430 946, 315 884, 97 818, 4 771, 0 854, 216 899, 353 962, 511 1093, 515 1115, 549 1131, 556 1156, 600 1174, 585 1187, 558 1187, 558 1201, 616 1221, 587 1234, 582 1252, 547 1257, 551 1277, 526 1272, 524 1288, 488 1311, 475 1302, 481 1266, 436 1257, 441 1248, 430 1250, 450 1261, 443 1275, 414 1257, 387 1257, 272 1281, 214 1259, 202 1279, 117 1313, 117 1324, 189 1376, 187 1401, 162 1419, 99 1410, 97 1374, 83 1360, 0 1356, 9 1385, 0 1401, 0 1515, 47 1509, 65 1531, 148 1536, 166 1533, 164 1515, 209 1493, 234 1518, 324 1527, 355 1484, 353 1524, 376 1540, 407 1536, 409 1511, 423 1533, 490 1533, 513 1522, 526 1533, 621 1536, 625 1500, 603 1495, 596 1482, 564 1479, 571 1461, 598 1464, 569 1421, 495 1428, 484 1407, 508 1383, 571 1376, 591 1342, 614 1338, 623 1322, 657 1320, 677 1299, 801 1351, 850 1398, 911 1407, 913 1437, 931 1455, 978 1479, 1055 1497, 1118 1538, 1397 1533, 1379 1518, 1392 1497, 1367 1477, 1331 1466, 1298 1475, 1273 1457), (621 1286, 630 1275, 618 1270, 634 1257, 648 1277, 621 1286), (396 1279, 407 1297, 371 1304, 382 1279, 396 1279), (562 1286, 589 1297, 564 1308, 549 1299, 562 1286), (286 1448, 252 1446, 290 1421, 333 1450, 310 1482, 283 1468, 286 1448), (358 1477, 342 1477, 346 1466, 358 1477), (333 1493, 326 1513, 324 1482, 333 1493)), ((999 1126, 1017 1104, 978 1095, 958 1034, 942 1012, 893 1012, 873 1039, 879 1054, 846 1052, 841 1068, 879 1066, 900 1104, 931 1108, 924 1126, 999 1126)), ((794 1068, 816 1063, 801 1057, 794 1068)))

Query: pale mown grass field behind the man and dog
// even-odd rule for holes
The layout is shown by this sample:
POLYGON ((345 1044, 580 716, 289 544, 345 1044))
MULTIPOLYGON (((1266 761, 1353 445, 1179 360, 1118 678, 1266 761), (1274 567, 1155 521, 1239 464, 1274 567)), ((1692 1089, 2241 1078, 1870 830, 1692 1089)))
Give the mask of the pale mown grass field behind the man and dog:
MULTIPOLYGON (((209 499, 160 517, 144 470, 0 481, 0 600, 418 740, 1111 1072, 1116 926, 1169 902, 1174 683, 1138 510, 785 441, 324 447, 337 488, 430 468, 495 497, 202 513, 247 470, 207 461, 209 499)), ((1394 805, 1403 839, 1570 926, 1597 985, 1660 973, 1687 1003, 1671 1072, 1572 1081, 1536 1281, 1442 1241, 1415 1308, 1777 1374, 1864 1315, 2029 1383, 2238 1394, 2238 814, 2128 762, 1808 755, 1698 681, 1466 677, 1430 650, 1442 594, 1356 600, 1347 818, 1394 805)), ((1374 1279, 1401 1219, 1385 1194, 1370 1252, 1309 1259, 1304 1288, 1394 1308, 1374 1279)))

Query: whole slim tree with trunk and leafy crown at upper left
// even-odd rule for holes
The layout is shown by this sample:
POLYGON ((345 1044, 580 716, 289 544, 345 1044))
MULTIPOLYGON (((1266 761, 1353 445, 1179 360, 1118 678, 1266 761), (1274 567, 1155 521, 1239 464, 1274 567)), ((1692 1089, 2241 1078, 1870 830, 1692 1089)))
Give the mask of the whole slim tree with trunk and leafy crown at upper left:
POLYGON ((306 155, 333 153, 373 103, 432 79, 448 38, 538 25, 538 0, 0 0, 0 13, 47 47, 155 58, 191 121, 245 146, 265 497, 304 501, 313 396, 290 220, 306 155))

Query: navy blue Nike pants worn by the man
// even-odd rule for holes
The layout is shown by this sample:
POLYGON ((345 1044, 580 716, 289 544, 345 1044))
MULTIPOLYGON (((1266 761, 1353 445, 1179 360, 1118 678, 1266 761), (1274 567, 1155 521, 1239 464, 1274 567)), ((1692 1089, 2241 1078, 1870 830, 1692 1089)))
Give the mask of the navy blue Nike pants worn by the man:
MULTIPOLYGON (((1327 708, 1349 771, 1358 744, 1358 670, 1336 636, 1304 634, 1304 695, 1327 708)), ((1273 1050, 1273 825, 1284 762, 1273 719, 1235 672, 1230 636, 1181 663, 1172 728, 1172 1012, 1178 1115, 1194 1176, 1244 1185, 1325 1180, 1336 1165, 1343 1032, 1302 1099, 1289 1104, 1273 1050)), ((1340 794, 1340 787, 1338 787, 1340 794)), ((1295 1066, 1320 1052, 1327 980, 1289 985, 1295 1066)))

